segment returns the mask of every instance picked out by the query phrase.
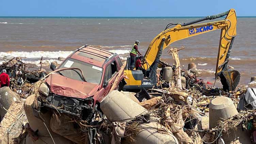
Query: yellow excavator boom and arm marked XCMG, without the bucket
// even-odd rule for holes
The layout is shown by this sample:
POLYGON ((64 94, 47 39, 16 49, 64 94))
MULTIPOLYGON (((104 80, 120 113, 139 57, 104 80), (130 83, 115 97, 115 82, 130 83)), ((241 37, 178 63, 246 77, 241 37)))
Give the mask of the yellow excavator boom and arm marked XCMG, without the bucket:
POLYGON ((145 60, 143 63, 143 67, 145 69, 149 69, 150 66, 152 67, 152 64, 154 64, 154 62, 157 59, 159 60, 162 54, 162 50, 170 44, 172 44, 173 42, 195 35, 204 34, 210 31, 221 29, 219 51, 215 70, 215 75, 217 76, 227 66, 231 47, 234 41, 234 37, 236 36, 236 25, 236 12, 234 9, 231 9, 227 12, 218 15, 207 16, 202 19, 198 19, 188 23, 178 24, 173 28, 166 29, 162 31, 160 34, 158 34, 153 39, 153 41, 151 41, 144 55, 145 60), (224 20, 191 25, 196 22, 215 19, 225 15, 227 16, 224 20))

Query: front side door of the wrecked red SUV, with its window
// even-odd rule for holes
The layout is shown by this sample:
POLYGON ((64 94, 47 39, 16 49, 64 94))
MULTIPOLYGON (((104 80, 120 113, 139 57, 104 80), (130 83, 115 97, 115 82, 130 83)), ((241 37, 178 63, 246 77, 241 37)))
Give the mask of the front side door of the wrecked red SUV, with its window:
POLYGON ((105 92, 103 96, 107 95, 109 93, 109 90, 111 89, 111 86, 113 85, 116 75, 117 75, 117 64, 116 61, 112 61, 106 68, 106 78, 105 81, 108 81, 108 85, 104 88, 105 92))

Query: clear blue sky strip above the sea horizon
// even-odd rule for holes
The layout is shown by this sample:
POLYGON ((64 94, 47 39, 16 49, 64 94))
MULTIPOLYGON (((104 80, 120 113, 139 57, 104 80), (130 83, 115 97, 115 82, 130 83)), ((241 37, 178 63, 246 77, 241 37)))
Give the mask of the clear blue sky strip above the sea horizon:
POLYGON ((256 16, 255 0, 0 0, 0 16, 207 16, 234 8, 256 16))

